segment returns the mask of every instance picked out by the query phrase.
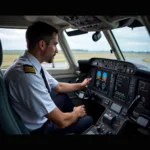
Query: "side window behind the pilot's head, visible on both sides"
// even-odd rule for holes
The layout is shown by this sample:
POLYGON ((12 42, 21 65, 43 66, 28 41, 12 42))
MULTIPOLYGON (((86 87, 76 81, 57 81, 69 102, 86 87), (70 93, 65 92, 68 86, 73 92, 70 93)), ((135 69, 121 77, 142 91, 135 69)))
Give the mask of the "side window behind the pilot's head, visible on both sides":
MULTIPOLYGON (((6 69, 8 66, 10 66, 12 62, 22 55, 27 49, 25 32, 26 29, 0 28, 0 39, 3 47, 2 69, 6 69)), ((65 58, 65 55, 59 44, 57 45, 57 48, 58 53, 54 58, 54 63, 42 63, 46 69, 66 69, 69 67, 67 59, 65 58)))

